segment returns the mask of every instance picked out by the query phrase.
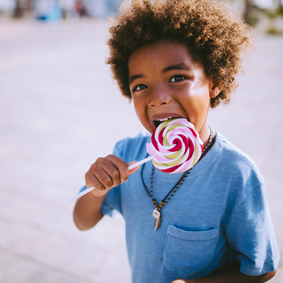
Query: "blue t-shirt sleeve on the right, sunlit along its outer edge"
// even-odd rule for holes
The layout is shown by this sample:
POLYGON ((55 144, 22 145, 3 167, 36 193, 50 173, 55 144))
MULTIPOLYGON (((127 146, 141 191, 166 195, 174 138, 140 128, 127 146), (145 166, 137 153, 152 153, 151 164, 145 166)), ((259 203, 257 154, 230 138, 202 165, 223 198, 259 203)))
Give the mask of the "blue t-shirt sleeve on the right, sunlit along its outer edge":
POLYGON ((256 186, 234 209, 226 235, 238 253, 243 274, 258 276, 276 270, 280 256, 264 185, 256 186))

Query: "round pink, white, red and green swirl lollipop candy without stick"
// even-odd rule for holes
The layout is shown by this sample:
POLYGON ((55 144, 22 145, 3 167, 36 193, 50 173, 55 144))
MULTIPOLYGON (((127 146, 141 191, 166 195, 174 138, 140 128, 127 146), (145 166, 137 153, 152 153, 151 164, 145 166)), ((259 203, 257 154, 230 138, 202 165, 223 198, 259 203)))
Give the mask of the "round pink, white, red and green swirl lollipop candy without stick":
POLYGON ((198 162, 203 142, 192 123, 175 118, 161 123, 146 147, 157 169, 166 173, 180 173, 198 162))

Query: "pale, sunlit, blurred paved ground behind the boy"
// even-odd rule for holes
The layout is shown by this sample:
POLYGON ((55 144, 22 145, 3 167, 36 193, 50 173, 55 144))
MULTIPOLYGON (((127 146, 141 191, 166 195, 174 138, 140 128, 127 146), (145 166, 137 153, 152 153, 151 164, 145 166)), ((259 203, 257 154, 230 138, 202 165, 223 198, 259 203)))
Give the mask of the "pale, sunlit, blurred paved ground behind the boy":
MULTIPOLYGON (((96 157, 142 129, 104 64, 107 25, 0 23, 3 283, 130 282, 121 217, 79 232, 66 203, 96 157)), ((257 39, 241 87, 210 124, 265 176, 283 254, 283 38, 257 39)), ((283 282, 282 260, 270 282, 283 282)))

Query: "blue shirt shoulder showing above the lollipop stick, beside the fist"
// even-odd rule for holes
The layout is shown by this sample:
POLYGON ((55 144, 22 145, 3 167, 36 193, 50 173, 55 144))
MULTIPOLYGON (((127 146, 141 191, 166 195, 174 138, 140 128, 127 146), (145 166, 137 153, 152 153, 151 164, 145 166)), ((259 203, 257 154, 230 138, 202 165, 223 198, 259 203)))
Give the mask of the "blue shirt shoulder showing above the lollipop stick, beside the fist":
POLYGON ((114 148, 114 154, 127 163, 133 160, 143 159, 146 152, 146 144, 150 142, 150 134, 141 132, 118 141, 114 148))

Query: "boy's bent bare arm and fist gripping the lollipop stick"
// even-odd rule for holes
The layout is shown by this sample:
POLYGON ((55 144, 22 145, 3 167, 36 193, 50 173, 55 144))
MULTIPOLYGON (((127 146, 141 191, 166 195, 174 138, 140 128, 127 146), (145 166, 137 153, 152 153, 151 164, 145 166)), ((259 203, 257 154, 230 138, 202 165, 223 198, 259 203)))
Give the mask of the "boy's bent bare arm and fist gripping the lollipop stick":
POLYGON ((79 198, 75 204, 73 218, 79 230, 94 227, 103 217, 101 206, 106 194, 116 186, 126 182, 129 175, 139 167, 129 171, 125 161, 115 155, 98 158, 85 174, 86 186, 95 189, 79 198))

